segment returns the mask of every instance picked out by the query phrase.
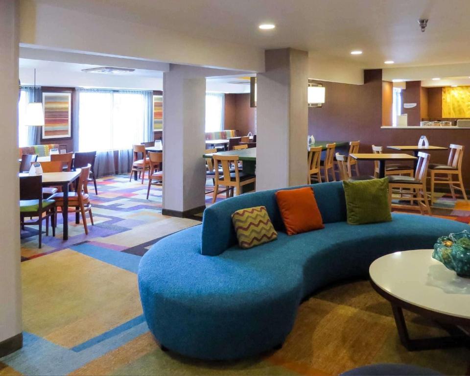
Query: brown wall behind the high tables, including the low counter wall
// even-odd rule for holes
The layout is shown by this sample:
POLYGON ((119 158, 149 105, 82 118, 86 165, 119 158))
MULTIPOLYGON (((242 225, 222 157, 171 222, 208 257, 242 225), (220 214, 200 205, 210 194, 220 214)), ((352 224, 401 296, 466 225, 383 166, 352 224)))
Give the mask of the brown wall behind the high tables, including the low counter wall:
MULTIPOLYGON (((321 82, 321 81, 319 81, 321 82)), ((308 109, 308 134, 319 141, 360 140, 359 151, 370 153, 371 145, 408 145, 425 135, 432 145, 463 144, 470 150, 470 129, 394 129, 382 124, 381 70, 364 72, 364 85, 321 82, 326 90, 323 107, 308 109)), ((447 163, 448 151, 430 152, 431 163, 447 163)), ((463 176, 470 188, 470 152, 464 155, 463 176)), ((372 174, 373 164, 359 162, 361 174, 372 174)))

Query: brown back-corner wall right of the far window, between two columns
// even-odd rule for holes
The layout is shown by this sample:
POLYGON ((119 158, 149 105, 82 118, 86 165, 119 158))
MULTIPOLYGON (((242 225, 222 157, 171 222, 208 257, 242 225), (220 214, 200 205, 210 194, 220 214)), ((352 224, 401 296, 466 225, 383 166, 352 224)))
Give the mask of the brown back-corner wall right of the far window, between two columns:
POLYGON ((224 129, 236 129, 240 136, 256 134, 256 109, 250 107, 250 94, 225 94, 224 129))

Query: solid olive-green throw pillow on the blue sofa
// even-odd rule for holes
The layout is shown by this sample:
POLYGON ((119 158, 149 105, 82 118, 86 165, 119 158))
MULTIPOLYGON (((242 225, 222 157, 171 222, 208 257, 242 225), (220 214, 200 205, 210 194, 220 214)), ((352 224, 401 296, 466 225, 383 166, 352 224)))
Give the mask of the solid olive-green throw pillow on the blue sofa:
POLYGON ((343 186, 350 225, 392 220, 388 202, 388 178, 345 180, 343 186))

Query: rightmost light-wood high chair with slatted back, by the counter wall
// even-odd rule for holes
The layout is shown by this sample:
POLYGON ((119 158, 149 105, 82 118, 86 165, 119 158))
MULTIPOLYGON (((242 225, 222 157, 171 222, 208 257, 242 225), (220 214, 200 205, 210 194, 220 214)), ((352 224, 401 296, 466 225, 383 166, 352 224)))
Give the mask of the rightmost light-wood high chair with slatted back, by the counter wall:
POLYGON ((452 198, 455 200, 455 188, 462 191, 465 202, 468 202, 465 192, 464 182, 462 180, 462 159, 464 158, 464 146, 451 143, 449 146, 449 159, 447 164, 429 164, 431 174, 431 205, 434 203, 434 185, 448 184, 452 198), (446 175, 446 177, 436 176, 446 175), (457 175, 457 180, 453 180, 452 175, 457 175), (454 184, 458 184, 455 186, 454 184))

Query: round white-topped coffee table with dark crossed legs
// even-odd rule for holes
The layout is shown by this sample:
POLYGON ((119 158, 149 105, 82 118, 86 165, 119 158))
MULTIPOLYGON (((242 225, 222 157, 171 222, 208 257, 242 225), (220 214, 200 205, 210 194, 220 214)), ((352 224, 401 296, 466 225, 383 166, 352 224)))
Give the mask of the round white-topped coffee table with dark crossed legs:
POLYGON ((400 341, 408 350, 470 346, 470 279, 431 257, 432 249, 396 252, 369 268, 372 287, 392 305, 400 341), (410 339, 402 309, 439 323, 450 336, 410 339))

